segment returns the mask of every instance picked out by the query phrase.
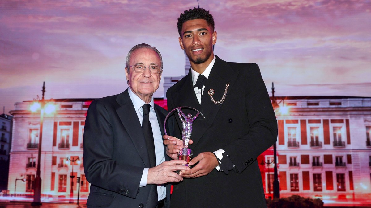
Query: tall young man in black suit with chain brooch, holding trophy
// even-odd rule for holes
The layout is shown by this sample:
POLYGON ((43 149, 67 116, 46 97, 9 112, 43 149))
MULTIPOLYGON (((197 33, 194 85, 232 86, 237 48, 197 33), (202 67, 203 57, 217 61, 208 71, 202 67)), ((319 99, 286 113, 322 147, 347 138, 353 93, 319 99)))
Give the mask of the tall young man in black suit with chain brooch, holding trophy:
MULTIPOLYGON (((193 123, 193 167, 181 172, 188 179, 174 185, 171 207, 266 207, 256 158, 276 142, 278 130, 259 67, 214 56, 217 33, 209 11, 184 11, 178 32, 191 68, 167 91, 168 110, 189 106, 206 119, 193 123)), ((173 136, 181 138, 174 117, 173 136)), ((164 137, 173 159, 182 146, 174 137, 164 137)))

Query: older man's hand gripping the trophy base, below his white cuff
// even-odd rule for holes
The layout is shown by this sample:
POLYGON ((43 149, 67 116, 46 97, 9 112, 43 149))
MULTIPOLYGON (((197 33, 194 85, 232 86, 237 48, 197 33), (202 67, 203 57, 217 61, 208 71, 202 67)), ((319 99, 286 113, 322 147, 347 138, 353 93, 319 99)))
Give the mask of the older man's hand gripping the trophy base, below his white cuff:
POLYGON ((147 184, 165 184, 167 182, 183 181, 183 177, 174 171, 187 171, 189 167, 180 164, 187 164, 187 162, 184 160, 171 160, 149 168, 147 184))

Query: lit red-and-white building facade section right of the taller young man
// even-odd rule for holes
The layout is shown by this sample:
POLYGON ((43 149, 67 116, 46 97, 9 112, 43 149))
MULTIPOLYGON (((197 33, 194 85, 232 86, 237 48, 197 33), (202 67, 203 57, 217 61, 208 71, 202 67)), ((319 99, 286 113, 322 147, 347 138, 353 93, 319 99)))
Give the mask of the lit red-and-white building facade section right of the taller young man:
MULTIPOLYGON (((371 199, 371 98, 279 97, 290 107, 278 119, 280 197, 324 201, 371 199)), ((258 158, 266 196, 273 196, 273 151, 258 158), (269 185, 270 183, 270 185, 269 185), (270 193, 269 194, 269 188, 270 193)))

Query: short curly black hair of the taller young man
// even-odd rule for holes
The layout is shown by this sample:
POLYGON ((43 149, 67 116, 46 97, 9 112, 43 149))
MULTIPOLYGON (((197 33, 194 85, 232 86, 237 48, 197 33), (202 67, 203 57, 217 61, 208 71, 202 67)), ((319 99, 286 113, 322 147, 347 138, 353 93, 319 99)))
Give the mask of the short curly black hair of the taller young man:
POLYGON ((196 20, 196 19, 203 19, 207 21, 207 25, 211 26, 214 31, 214 18, 210 14, 209 11, 206 11, 205 9, 202 8, 196 8, 194 7, 193 9, 185 10, 184 13, 180 14, 180 17, 178 18, 178 33, 180 36, 182 36, 181 30, 183 23, 188 20, 196 20))

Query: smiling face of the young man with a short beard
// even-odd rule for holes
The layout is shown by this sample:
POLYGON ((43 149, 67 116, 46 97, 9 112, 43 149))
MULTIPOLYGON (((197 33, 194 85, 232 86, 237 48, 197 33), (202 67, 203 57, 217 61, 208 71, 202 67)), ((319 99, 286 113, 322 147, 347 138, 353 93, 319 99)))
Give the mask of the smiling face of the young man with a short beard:
POLYGON ((206 20, 188 20, 183 23, 179 44, 194 64, 210 63, 214 58, 216 37, 216 31, 207 25, 206 20))

